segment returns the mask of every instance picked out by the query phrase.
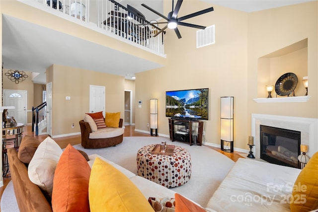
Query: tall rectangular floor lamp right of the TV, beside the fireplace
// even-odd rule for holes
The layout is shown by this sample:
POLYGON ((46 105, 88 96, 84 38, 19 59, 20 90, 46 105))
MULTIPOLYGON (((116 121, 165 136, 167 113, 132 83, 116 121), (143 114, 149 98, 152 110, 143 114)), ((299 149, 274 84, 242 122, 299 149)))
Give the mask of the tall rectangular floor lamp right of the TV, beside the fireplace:
POLYGON ((234 97, 221 97, 221 150, 234 151, 234 97), (229 146, 230 145, 230 146, 229 146))

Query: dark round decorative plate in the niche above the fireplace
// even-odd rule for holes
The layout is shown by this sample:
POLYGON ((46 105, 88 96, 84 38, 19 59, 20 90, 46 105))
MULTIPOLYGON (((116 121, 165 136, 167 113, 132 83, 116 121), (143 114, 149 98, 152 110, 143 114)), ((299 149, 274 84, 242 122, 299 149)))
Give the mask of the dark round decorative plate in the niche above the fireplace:
POLYGON ((280 96, 289 96, 294 92, 298 83, 295 73, 285 73, 281 75, 275 84, 275 91, 280 96))

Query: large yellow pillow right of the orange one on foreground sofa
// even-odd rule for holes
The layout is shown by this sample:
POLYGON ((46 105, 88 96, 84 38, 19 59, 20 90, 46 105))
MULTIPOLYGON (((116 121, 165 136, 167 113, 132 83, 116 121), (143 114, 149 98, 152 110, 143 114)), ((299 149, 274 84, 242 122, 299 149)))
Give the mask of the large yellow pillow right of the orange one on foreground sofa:
POLYGON ((127 176, 98 157, 90 172, 88 198, 90 212, 154 212, 127 176))

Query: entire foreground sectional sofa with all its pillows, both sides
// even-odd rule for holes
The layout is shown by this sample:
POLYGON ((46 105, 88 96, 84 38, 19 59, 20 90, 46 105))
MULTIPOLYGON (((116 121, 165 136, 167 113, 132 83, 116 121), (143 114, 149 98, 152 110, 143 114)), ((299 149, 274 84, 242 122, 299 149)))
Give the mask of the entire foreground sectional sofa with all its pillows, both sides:
MULTIPOLYGON (((68 157, 68 159, 71 158, 71 161, 66 160, 65 162, 65 159, 62 158, 65 158, 68 151, 71 152, 72 147, 70 144, 65 150, 62 150, 56 147, 57 144, 49 137, 40 144, 37 142, 39 141, 25 136, 21 142, 19 152, 16 152, 14 148, 8 148, 7 151, 11 179, 20 211, 52 211, 53 205, 56 205, 56 201, 53 201, 56 199, 55 197, 60 197, 62 199, 60 202, 63 202, 66 199, 71 199, 63 195, 69 195, 72 191, 76 192, 78 196, 80 196, 79 194, 83 196, 79 202, 87 203, 86 209, 90 207, 90 211, 100 211, 101 208, 95 208, 93 205, 102 204, 102 208, 120 205, 112 201, 116 199, 114 196, 121 192, 129 196, 134 209, 140 201, 143 201, 145 204, 145 200, 148 200, 148 202, 146 202, 152 207, 161 204, 161 209, 165 207, 165 205, 162 204, 172 203, 177 212, 200 212, 203 210, 198 204, 180 196, 174 191, 137 176, 131 171, 97 154, 88 156, 85 155, 84 152, 81 152, 79 155, 79 153, 74 152, 73 149, 73 155, 76 154, 76 157, 71 155, 68 157), (45 145, 41 145, 43 143, 45 143, 45 145), (45 146, 46 149, 43 149, 43 146, 45 146), (56 169, 53 171, 49 170, 50 165, 41 159, 41 157, 44 158, 45 156, 40 157, 38 164, 44 167, 46 175, 52 176, 54 180, 53 189, 52 186, 50 187, 47 183, 45 183, 46 185, 44 187, 41 185, 45 180, 41 180, 41 183, 36 185, 30 179, 32 176, 30 170, 33 169, 32 167, 34 166, 33 160, 35 158, 39 159, 37 155, 38 152, 42 155, 42 152, 49 151, 54 155, 53 160, 56 161, 56 169), (70 178, 70 167, 65 168, 62 165, 69 165, 73 168, 73 171, 78 172, 77 174, 80 175, 80 178, 77 177, 77 179, 80 180, 80 186, 71 186, 69 182, 65 184, 65 180, 70 178), (58 179, 64 180, 64 184, 58 181, 58 179), (86 186, 82 186, 83 179, 85 179, 86 186), (52 196, 48 196, 47 192, 44 191, 48 188, 51 188, 52 196), (80 191, 78 191, 79 188, 81 189, 80 191), (86 190, 83 191, 82 188, 86 188, 86 190), (121 189, 121 192, 118 192, 118 189, 121 189), (58 192, 55 192, 55 190, 58 192), (110 191, 114 192, 111 193, 110 191), (110 199, 107 199, 106 195, 108 195, 110 199), (163 202, 163 200, 165 200, 165 202, 163 202), (109 205, 107 205, 107 203, 109 203, 109 205), (185 208, 181 207, 182 210, 177 210, 176 206, 180 205, 185 206, 185 208)), ((52 161, 52 158, 47 159, 52 161)), ((37 171, 36 173, 38 175, 41 172, 37 171)), ((208 204, 203 206, 203 211, 308 212, 317 210, 317 176, 318 152, 313 155, 303 170, 253 159, 239 158, 225 179, 221 182, 219 188, 211 196, 208 204)), ((155 210, 155 208, 156 207, 153 207, 149 211, 161 211, 155 210)), ((86 210, 82 209, 80 211, 86 210)), ((122 210, 117 209, 117 211, 122 210)))

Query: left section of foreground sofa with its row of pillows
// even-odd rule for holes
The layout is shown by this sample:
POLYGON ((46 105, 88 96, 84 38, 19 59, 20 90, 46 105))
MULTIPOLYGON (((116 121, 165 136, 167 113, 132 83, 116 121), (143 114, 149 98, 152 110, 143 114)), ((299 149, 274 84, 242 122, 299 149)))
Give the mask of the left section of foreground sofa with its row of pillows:
POLYGON ((107 211, 107 207, 115 207, 109 211, 123 212, 159 212, 166 207, 172 207, 173 211, 175 209, 179 212, 184 211, 184 207, 191 211, 204 211, 201 206, 174 191, 136 176, 106 158, 97 154, 85 155, 83 151, 76 150, 75 152, 74 150, 75 148, 69 144, 60 151, 57 143, 50 137, 39 142, 28 136, 23 138, 19 152, 14 148, 8 148, 7 154, 13 189, 21 212, 98 212, 101 209, 107 211), (47 152, 54 156, 47 156, 47 152), (39 155, 42 158, 37 161, 37 166, 41 166, 45 170, 40 170, 41 167, 38 167, 35 170, 36 177, 43 173, 46 175, 45 178, 52 178, 53 188, 46 179, 42 178, 39 184, 35 184, 34 179, 32 180, 34 176, 32 176, 30 169, 34 169, 33 160, 39 160, 39 155), (45 160, 49 160, 49 162, 45 160), (54 160, 55 162, 52 162, 54 160), (54 170, 51 168, 52 164, 55 165, 54 170), (70 173, 75 173, 76 177, 70 173), (78 183, 77 185, 74 185, 75 181, 78 183), (48 195, 47 189, 50 187, 52 194, 48 195), (118 194, 121 196, 117 198, 118 194), (68 196, 66 197, 66 195, 68 196), (76 201, 78 198, 80 199, 76 201), (119 200, 119 203, 114 202, 116 200, 119 200), (69 202, 65 204, 66 201, 69 202), (177 202, 179 203, 177 204, 177 202), (158 209, 158 204, 161 208, 155 210, 158 209), (178 210, 174 208, 175 205, 179 206, 178 210), (146 210, 143 207, 146 207, 146 210))

